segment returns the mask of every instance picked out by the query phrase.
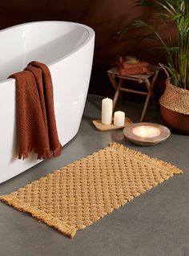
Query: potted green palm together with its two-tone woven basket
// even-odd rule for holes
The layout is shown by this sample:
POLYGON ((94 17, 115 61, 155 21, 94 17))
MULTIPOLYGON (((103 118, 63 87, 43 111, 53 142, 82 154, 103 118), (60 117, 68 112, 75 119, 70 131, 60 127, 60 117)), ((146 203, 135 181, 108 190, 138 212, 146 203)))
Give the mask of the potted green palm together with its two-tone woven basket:
POLYGON ((163 120, 177 131, 189 134, 189 1, 188 0, 137 0, 137 6, 151 8, 147 21, 135 19, 129 27, 120 31, 123 36, 131 27, 143 27, 147 34, 141 37, 158 39, 160 49, 166 54, 166 65, 160 64, 167 74, 166 89, 160 97, 163 120), (175 26, 175 40, 163 38, 159 26, 171 22, 175 26))

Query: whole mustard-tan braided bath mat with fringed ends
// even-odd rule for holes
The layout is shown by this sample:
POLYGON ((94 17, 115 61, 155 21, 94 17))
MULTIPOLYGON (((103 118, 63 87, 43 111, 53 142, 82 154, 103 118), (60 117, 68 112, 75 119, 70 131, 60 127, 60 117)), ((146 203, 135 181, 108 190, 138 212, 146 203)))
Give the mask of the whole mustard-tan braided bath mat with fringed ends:
POLYGON ((182 170, 111 143, 0 200, 70 238, 182 170))

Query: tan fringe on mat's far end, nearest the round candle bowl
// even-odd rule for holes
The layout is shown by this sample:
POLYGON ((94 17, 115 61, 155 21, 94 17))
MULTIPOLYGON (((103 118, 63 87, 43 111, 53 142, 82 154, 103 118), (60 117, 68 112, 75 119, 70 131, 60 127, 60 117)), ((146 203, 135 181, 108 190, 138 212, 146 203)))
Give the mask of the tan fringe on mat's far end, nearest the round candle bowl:
POLYGON ((173 174, 183 174, 183 170, 177 168, 175 165, 171 165, 165 161, 159 160, 158 158, 147 156, 142 152, 136 151, 131 148, 126 148, 123 144, 118 144, 116 142, 111 142, 108 148, 115 149, 116 151, 122 152, 126 156, 133 156, 140 161, 145 161, 151 165, 155 165, 160 169, 164 169, 173 174))

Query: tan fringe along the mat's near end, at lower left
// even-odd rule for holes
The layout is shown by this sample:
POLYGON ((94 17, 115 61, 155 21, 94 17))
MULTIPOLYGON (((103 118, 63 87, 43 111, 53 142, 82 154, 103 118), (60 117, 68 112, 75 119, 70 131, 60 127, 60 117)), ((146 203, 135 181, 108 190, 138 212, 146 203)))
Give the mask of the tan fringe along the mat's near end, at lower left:
POLYGON ((20 201, 17 197, 12 195, 1 196, 0 201, 6 203, 6 205, 11 205, 20 212, 30 213, 33 217, 37 218, 38 221, 43 221, 46 225, 54 227, 56 230, 65 234, 66 236, 73 238, 76 234, 76 229, 73 226, 69 226, 66 223, 58 220, 57 217, 53 217, 48 213, 43 212, 41 209, 37 209, 34 206, 26 204, 20 201))

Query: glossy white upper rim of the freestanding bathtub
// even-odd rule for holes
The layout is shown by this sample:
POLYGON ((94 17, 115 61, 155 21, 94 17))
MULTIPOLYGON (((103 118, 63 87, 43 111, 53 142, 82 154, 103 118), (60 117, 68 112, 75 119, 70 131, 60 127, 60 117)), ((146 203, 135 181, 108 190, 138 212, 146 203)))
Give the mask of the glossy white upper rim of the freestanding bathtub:
MULTIPOLYGON (((79 22, 60 21, 60 20, 42 20, 42 21, 34 21, 34 22, 24 22, 24 23, 20 23, 20 24, 14 25, 14 26, 8 26, 8 27, 0 30, 0 35, 2 32, 7 31, 7 30, 12 30, 19 26, 27 26, 27 25, 32 25, 32 24, 36 24, 36 23, 65 23, 65 24, 70 24, 70 25, 74 25, 74 26, 82 26, 88 32, 88 37, 85 39, 85 41, 83 43, 81 43, 78 47, 75 47, 73 51, 70 51, 68 54, 63 55, 61 58, 58 58, 50 63, 47 63, 46 64, 47 67, 51 67, 55 63, 58 63, 58 62, 62 61, 63 59, 68 58, 70 55, 73 55, 74 52, 79 51, 79 49, 81 49, 82 47, 85 47, 88 43, 90 43, 94 39, 94 36, 95 36, 94 30, 90 26, 87 26, 87 25, 79 23, 79 22)), ((0 86, 9 80, 13 80, 13 78, 9 78, 9 79, 7 78, 7 79, 0 80, 0 86)))

